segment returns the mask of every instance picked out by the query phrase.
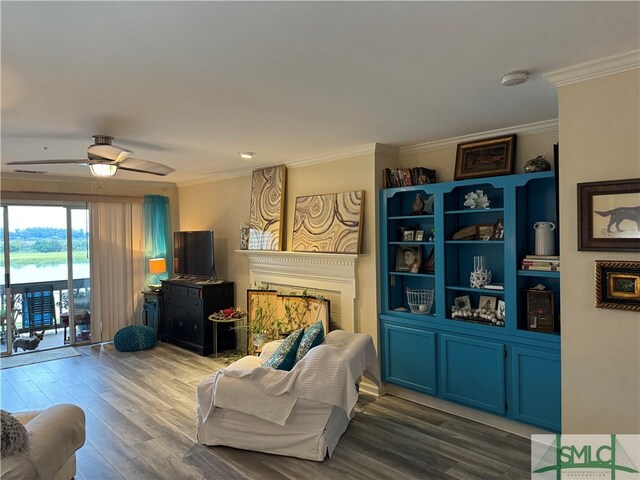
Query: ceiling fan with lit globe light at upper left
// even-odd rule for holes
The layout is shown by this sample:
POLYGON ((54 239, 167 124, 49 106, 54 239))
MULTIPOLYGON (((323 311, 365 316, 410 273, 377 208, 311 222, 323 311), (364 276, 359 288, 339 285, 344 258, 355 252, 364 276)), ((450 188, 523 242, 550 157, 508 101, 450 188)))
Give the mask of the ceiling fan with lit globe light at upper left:
POLYGON ((173 168, 160 163, 129 157, 131 151, 111 145, 113 137, 108 135, 93 135, 93 140, 93 145, 90 145, 87 149, 86 159, 27 160, 7 162, 7 165, 88 165, 91 173, 96 177, 112 177, 118 169, 161 176, 175 171, 173 168))

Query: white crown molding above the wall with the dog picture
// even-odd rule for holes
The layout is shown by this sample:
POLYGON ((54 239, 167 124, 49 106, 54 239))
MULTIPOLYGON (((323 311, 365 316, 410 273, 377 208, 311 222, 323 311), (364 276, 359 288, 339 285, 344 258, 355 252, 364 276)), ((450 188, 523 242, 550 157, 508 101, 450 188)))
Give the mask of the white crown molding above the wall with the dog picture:
POLYGON ((555 87, 584 82, 616 73, 640 68, 640 50, 631 50, 619 55, 580 63, 572 67, 554 70, 543 75, 555 87))

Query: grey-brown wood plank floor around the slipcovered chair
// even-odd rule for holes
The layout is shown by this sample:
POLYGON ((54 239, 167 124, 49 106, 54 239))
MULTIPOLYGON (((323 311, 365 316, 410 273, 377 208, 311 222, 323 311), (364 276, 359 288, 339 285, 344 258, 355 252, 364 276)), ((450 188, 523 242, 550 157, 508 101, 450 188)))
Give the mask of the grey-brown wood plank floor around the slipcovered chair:
POLYGON ((528 479, 530 442, 396 397, 361 395, 331 459, 312 462, 195 442, 195 386, 224 366, 159 343, 2 370, 8 411, 74 403, 87 416, 78 480, 528 479))

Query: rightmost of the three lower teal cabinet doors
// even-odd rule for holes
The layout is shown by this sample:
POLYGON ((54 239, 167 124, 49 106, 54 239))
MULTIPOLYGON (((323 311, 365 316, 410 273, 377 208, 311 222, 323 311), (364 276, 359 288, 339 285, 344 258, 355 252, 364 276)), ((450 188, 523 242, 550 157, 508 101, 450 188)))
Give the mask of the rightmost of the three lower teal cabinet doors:
POLYGON ((513 418, 559 432, 560 354, 513 347, 513 418))

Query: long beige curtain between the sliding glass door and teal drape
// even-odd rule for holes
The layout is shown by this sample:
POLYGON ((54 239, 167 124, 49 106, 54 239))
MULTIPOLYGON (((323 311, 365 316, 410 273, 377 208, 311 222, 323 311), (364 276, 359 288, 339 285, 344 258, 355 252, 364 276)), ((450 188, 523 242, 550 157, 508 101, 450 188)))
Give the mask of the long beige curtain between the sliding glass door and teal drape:
POLYGON ((140 323, 144 287, 141 203, 89 204, 91 218, 91 339, 113 340, 122 327, 140 323))

